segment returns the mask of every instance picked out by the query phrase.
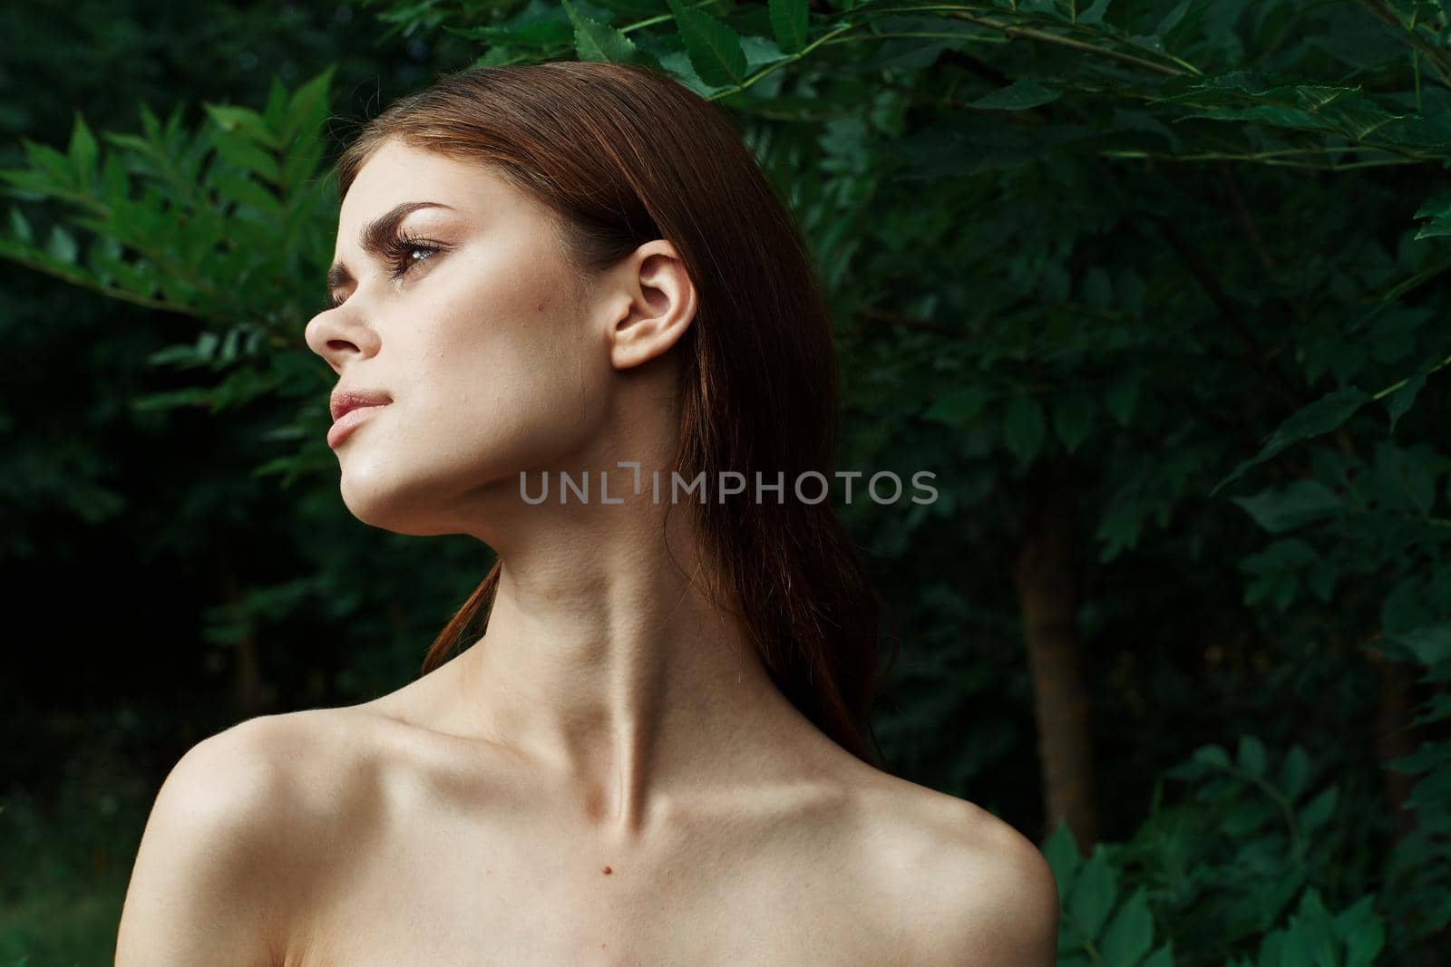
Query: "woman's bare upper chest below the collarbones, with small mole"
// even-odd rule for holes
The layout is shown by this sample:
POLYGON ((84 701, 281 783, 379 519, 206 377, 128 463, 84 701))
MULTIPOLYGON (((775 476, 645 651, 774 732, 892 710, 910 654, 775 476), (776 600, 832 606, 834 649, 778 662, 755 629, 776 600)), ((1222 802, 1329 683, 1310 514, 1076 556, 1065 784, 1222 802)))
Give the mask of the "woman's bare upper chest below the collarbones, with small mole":
POLYGON ((839 837, 782 832, 611 854, 564 829, 435 822, 340 858, 286 963, 905 964, 891 884, 839 837))

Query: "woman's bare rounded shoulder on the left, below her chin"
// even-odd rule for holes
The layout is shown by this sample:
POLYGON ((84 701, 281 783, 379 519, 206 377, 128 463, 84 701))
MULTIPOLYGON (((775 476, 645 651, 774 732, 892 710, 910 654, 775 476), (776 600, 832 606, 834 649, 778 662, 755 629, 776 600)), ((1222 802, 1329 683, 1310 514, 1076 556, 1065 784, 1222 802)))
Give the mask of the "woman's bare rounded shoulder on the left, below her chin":
POLYGON ((363 723, 340 712, 248 719, 171 768, 132 868, 118 967, 207 963, 218 950, 237 964, 281 963, 287 913, 337 826, 340 783, 360 771, 340 738, 363 723))

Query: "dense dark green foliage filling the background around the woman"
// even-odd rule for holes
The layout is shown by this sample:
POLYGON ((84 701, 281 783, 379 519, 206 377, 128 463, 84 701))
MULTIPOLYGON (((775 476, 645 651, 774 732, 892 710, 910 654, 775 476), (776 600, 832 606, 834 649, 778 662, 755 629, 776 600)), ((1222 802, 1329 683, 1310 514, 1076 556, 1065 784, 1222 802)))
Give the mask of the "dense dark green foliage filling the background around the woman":
MULTIPOLYGON (((1448 4, 425 0, 380 17, 463 52, 438 67, 641 62, 737 120, 829 286, 843 465, 937 474, 934 505, 842 507, 903 639, 884 750, 1043 842, 1061 964, 1451 947, 1448 4), (1094 705, 1082 850, 1065 826, 1037 835, 1032 710, 1051 699, 1007 565, 1045 502, 1072 507, 1094 705)), ((128 320, 168 318, 135 389, 97 397, 147 428, 135 457, 80 407, 58 436, 0 397, 7 561, 80 568, 46 542, 67 518, 136 534, 136 567, 216 573, 194 638, 171 632, 183 665, 149 667, 177 693, 203 661, 229 668, 231 718, 106 719, 168 752, 258 709, 398 687, 488 565, 464 538, 370 532, 337 496, 332 374, 302 326, 337 217, 332 90, 360 80, 340 70, 192 119, 144 109, 139 129, 77 116, 4 174, 0 255, 128 320), (176 452, 203 431, 215 445, 176 452), (160 486, 123 490, 118 460, 160 486)), ((61 332, 26 345, 64 352, 61 332)), ((84 338, 97 371, 136 358, 126 326, 84 338)), ((45 639, 97 648, 54 623, 45 639)), ((145 805, 154 777, 106 768, 145 805)), ((39 799, 6 794, 39 822, 39 799)), ((44 834, 26 842, 45 855, 44 834)), ((0 957, 16 944, 0 934, 0 957)))

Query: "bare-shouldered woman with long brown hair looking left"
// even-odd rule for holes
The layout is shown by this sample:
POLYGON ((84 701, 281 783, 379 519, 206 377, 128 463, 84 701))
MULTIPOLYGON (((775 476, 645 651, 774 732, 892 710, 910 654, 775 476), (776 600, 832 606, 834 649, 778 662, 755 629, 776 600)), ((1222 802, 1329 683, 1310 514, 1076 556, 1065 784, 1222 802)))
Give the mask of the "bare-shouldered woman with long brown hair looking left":
POLYGON ((342 500, 498 563, 419 680, 183 757, 118 964, 1052 964, 1032 842, 868 758, 830 326, 730 123, 643 68, 474 68, 338 170, 342 500))

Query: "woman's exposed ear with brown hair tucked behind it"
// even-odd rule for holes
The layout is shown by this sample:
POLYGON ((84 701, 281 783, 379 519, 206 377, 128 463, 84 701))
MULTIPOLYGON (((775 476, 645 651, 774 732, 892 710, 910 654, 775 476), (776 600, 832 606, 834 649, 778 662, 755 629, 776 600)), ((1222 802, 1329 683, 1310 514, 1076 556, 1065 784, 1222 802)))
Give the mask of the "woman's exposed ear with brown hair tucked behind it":
POLYGON ((695 284, 675 246, 646 242, 617 267, 625 309, 609 329, 609 362, 628 370, 663 355, 695 320, 695 284))

